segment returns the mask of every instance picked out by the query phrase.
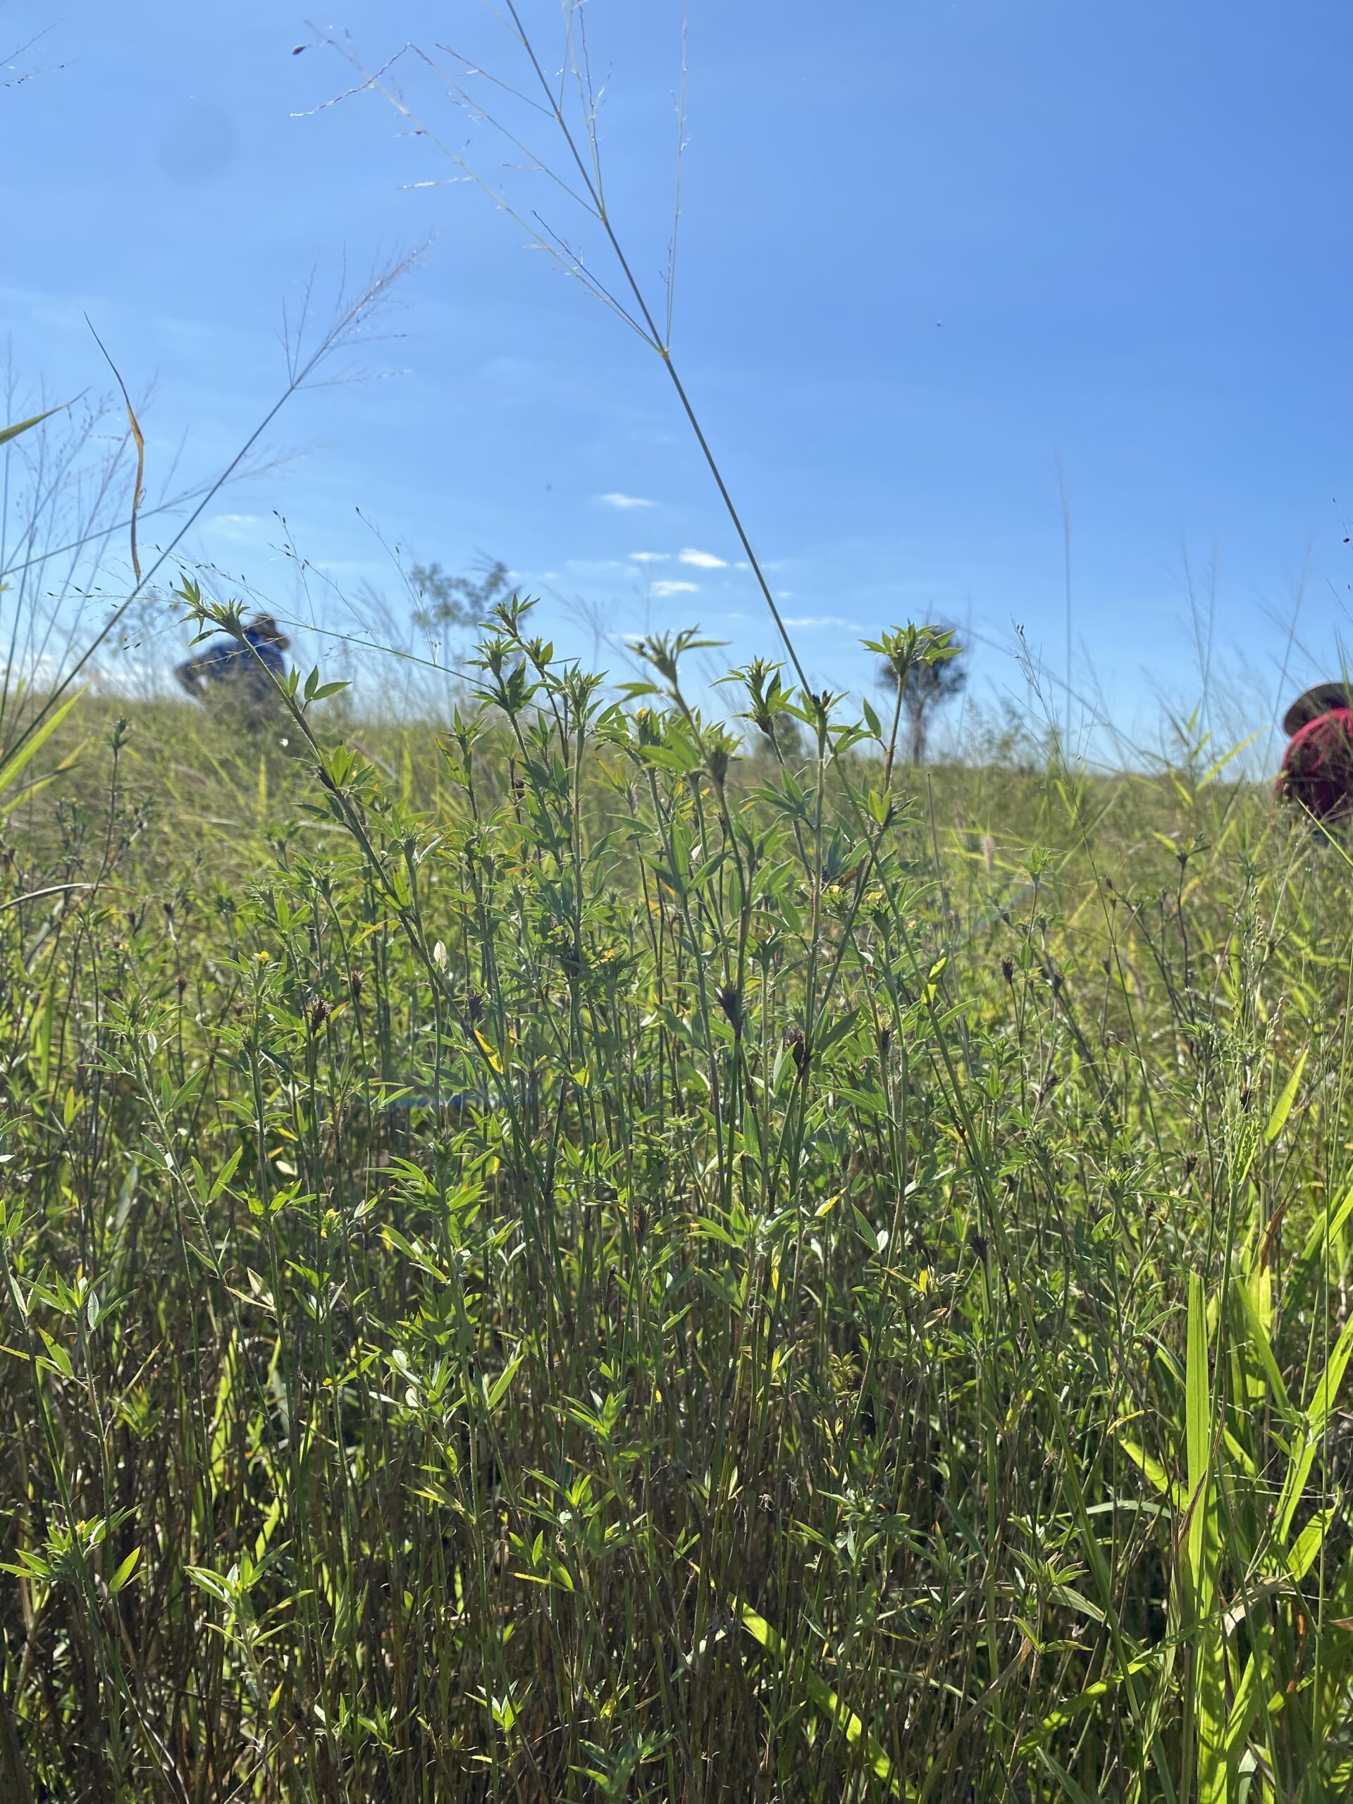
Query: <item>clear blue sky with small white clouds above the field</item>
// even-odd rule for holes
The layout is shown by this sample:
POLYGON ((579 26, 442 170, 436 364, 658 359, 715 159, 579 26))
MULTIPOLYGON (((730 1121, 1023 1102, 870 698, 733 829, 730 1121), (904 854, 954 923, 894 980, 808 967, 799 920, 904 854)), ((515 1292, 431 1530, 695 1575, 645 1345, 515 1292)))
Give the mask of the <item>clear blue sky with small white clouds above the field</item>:
MULTIPOLYGON (((348 364, 381 379, 299 397, 271 444, 301 455, 224 494, 191 550, 330 628, 364 583, 395 601, 397 545, 505 559, 588 655, 568 597, 617 635, 698 622, 731 658, 772 651, 653 352, 379 97, 312 112, 355 79, 314 25, 368 67, 449 40, 520 78, 511 41, 482 7, 328 5, 0 7, 0 54, 45 32, 0 88, 16 366, 56 397, 105 386, 88 312, 132 390, 153 382, 153 492, 272 402, 312 269, 330 294, 345 260, 431 236, 395 336, 348 364), (276 512, 332 586, 299 594, 276 512)), ((557 4, 525 16, 557 58, 557 4)), ((680 5, 586 16, 610 206, 660 294, 680 5)), ((1059 676, 1059 469, 1073 682, 1118 720, 1198 689, 1185 557, 1218 667, 1243 653, 1257 696, 1337 657, 1351 51, 1322 0, 693 0, 675 354, 815 678, 868 684, 857 639, 933 615, 981 637, 985 689, 1023 693, 1012 622, 1059 676)), ((395 79, 592 256, 548 180, 410 58, 395 79)))

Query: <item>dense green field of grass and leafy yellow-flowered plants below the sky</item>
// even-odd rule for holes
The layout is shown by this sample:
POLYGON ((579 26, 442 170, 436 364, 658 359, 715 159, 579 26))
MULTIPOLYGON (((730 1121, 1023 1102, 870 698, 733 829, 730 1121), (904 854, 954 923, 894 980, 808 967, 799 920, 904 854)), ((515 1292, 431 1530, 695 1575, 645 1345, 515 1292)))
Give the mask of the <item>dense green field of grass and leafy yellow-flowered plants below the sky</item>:
POLYGON ((1342 851, 529 631, 0 797, 0 1797, 1353 1795, 1342 851))

